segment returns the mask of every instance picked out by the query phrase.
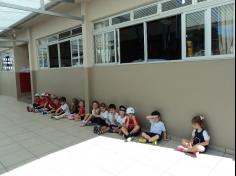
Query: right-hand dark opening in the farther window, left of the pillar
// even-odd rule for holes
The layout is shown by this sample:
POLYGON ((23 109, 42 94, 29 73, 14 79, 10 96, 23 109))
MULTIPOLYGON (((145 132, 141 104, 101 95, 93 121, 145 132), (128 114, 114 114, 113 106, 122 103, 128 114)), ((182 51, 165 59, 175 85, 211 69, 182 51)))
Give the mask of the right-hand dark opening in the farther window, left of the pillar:
POLYGON ((60 43, 61 67, 71 66, 70 41, 60 43))

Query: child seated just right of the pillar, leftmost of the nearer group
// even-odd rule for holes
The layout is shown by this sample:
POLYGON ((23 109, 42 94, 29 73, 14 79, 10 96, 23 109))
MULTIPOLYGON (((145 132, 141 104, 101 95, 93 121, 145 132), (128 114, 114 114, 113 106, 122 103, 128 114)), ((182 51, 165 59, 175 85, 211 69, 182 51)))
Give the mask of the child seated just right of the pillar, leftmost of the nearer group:
POLYGON ((98 101, 92 102, 92 113, 86 114, 84 117, 84 120, 81 122, 80 126, 84 127, 90 123, 96 124, 97 123, 97 117, 100 115, 100 109, 99 109, 99 103, 98 101))

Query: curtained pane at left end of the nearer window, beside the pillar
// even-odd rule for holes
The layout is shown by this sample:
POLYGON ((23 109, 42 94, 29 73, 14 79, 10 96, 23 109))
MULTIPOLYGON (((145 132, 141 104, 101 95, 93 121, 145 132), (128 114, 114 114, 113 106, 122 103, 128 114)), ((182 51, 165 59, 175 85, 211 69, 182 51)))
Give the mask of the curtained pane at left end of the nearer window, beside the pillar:
POLYGON ((116 61, 114 31, 95 36, 95 58, 97 64, 116 61))

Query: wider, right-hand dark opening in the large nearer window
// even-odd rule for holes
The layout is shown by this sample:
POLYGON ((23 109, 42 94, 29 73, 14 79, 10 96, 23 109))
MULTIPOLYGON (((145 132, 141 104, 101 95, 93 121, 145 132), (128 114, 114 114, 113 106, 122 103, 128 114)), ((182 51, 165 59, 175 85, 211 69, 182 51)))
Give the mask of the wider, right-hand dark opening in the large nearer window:
POLYGON ((181 59, 181 16, 147 23, 148 59, 181 59))

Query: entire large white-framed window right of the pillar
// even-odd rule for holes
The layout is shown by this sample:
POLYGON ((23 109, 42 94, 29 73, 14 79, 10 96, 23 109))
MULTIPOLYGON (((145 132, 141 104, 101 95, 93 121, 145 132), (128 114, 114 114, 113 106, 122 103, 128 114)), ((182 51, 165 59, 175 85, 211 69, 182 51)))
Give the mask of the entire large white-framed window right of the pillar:
POLYGON ((163 0, 106 17, 94 24, 95 63, 233 58, 235 3, 222 3, 163 0))

